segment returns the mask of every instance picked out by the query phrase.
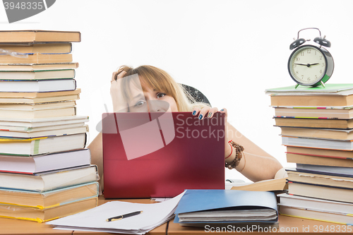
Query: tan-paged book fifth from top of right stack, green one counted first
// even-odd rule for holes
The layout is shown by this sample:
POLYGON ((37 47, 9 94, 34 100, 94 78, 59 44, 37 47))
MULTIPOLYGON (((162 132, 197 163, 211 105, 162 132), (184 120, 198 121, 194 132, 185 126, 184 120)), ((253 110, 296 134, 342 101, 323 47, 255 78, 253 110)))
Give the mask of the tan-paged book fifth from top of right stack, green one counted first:
POLYGON ((281 126, 281 135, 304 138, 353 140, 353 129, 322 129, 281 126))

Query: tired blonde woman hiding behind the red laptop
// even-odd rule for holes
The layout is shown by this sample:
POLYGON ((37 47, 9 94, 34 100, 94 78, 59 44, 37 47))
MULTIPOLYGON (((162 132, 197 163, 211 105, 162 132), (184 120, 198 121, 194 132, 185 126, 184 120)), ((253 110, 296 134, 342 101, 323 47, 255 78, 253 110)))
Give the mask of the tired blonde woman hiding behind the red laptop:
MULTIPOLYGON (((226 167, 236 169, 251 181, 273 179, 277 171, 282 169, 277 159, 227 122, 227 109, 218 110, 208 104, 193 102, 193 97, 162 69, 153 66, 121 66, 113 73, 111 83, 114 112, 191 112, 199 119, 212 119, 215 112, 225 114, 226 167), (130 78, 129 82, 126 78, 130 78), (169 107, 159 105, 158 102, 167 102, 169 107)), ((88 147, 91 150, 92 164, 97 164, 102 179, 102 133, 88 147)))

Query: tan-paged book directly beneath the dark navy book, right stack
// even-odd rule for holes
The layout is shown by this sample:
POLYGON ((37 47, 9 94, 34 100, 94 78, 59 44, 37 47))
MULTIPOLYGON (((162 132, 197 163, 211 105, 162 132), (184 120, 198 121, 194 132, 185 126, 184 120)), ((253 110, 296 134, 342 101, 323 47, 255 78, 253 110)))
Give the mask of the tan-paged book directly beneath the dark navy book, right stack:
POLYGON ((353 189, 353 177, 348 176, 332 176, 323 173, 309 173, 297 171, 295 169, 287 169, 288 181, 313 183, 322 186, 333 186, 353 189))

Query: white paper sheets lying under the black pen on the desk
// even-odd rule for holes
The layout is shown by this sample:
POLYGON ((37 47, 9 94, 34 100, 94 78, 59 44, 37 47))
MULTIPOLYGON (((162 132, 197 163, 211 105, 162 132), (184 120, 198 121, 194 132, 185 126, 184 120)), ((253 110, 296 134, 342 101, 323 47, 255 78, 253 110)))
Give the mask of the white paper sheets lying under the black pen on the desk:
POLYGON ((174 211, 183 195, 184 193, 181 193, 175 198, 162 203, 140 204, 121 201, 104 203, 91 210, 61 219, 55 219, 51 222, 47 222, 47 224, 51 224, 56 227, 56 229, 145 234, 173 217, 174 211), (141 210, 143 212, 140 215, 114 222, 106 221, 106 219, 110 217, 141 210))

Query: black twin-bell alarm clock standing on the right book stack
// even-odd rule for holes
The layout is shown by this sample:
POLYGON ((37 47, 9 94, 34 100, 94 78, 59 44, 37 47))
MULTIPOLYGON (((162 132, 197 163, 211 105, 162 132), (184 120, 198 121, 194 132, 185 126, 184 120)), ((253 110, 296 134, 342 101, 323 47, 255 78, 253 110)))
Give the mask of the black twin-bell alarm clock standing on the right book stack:
POLYGON ((323 85, 330 79, 333 74, 333 57, 327 49, 323 47, 331 47, 331 43, 321 37, 318 28, 304 28, 298 31, 297 40, 290 44, 289 49, 295 49, 289 56, 288 71, 291 78, 298 85, 317 86, 323 85), (299 32, 302 30, 315 29, 318 30, 320 36, 315 37, 313 42, 299 38, 299 32), (306 43, 305 43, 306 42, 306 43), (305 44, 304 44, 305 43, 305 44))

